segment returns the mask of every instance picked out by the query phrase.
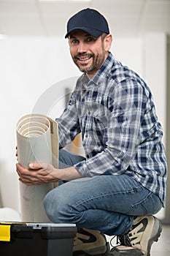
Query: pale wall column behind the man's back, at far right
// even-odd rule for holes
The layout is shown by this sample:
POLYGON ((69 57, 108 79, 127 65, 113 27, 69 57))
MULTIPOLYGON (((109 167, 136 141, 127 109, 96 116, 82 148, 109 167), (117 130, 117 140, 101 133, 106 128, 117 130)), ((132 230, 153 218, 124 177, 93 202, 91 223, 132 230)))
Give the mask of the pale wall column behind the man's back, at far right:
MULTIPOLYGON (((166 35, 147 34, 144 37, 144 78, 150 85, 158 117, 166 129, 166 35)), ((166 143, 164 134, 163 143, 166 143)))

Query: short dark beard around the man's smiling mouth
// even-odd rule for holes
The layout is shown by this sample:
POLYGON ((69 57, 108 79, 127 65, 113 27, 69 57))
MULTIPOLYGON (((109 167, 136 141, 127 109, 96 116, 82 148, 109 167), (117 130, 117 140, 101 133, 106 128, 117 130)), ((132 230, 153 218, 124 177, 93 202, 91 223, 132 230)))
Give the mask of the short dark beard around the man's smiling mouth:
POLYGON ((81 72, 84 72, 86 74, 92 74, 93 72, 96 72, 101 65, 104 63, 104 52, 102 54, 88 54, 88 53, 78 53, 75 56, 72 56, 72 59, 74 61, 74 64, 77 65, 77 67, 80 69, 81 72), (78 62, 79 58, 81 57, 87 57, 87 58, 92 58, 92 64, 88 66, 88 64, 80 64, 78 62))

